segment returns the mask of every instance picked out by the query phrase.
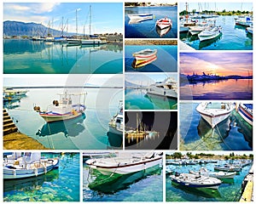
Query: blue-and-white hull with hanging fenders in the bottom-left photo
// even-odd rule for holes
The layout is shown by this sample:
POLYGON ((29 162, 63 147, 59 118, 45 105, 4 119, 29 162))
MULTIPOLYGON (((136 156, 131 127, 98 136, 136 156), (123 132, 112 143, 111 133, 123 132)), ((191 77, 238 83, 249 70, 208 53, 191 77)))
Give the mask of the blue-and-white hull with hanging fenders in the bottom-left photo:
POLYGON ((3 178, 4 179, 18 179, 18 178, 30 178, 37 177, 39 175, 48 173, 54 168, 58 167, 59 160, 53 161, 53 164, 48 167, 39 167, 35 169, 9 169, 7 167, 3 168, 3 178))

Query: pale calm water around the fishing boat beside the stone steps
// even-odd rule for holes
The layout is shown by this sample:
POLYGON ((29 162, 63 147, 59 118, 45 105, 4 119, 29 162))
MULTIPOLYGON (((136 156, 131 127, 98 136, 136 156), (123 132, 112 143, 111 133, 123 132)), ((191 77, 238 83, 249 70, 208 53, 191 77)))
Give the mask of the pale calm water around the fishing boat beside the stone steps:
MULTIPOLYGON (((66 88, 67 93, 79 93, 77 89, 66 88)), ((65 89, 65 90, 66 90, 65 89)), ((116 113, 122 89, 119 88, 84 88, 86 92, 84 116, 65 122, 44 122, 44 119, 33 111, 33 105, 41 110, 62 94, 61 88, 31 88, 26 98, 20 99, 20 106, 9 109, 21 133, 37 139, 45 147, 55 150, 106 150, 108 142, 108 122, 116 113)), ((78 102, 73 98, 73 102, 78 102)), ((114 147, 114 146, 113 146, 114 147)), ((112 148, 113 148, 112 147, 112 148)), ((119 146, 117 146, 119 148, 119 146)), ((115 148, 117 148, 115 147, 115 148)))

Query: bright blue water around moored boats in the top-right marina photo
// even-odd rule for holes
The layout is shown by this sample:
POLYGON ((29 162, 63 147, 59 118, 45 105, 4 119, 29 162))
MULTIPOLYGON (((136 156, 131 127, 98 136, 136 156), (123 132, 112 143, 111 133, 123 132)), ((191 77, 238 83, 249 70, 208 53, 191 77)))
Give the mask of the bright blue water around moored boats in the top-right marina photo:
POLYGON ((236 26, 234 16, 219 16, 216 26, 222 27, 222 35, 212 40, 200 42, 196 36, 181 33, 180 39, 192 48, 201 50, 252 50, 253 36, 247 34, 246 27, 236 26))

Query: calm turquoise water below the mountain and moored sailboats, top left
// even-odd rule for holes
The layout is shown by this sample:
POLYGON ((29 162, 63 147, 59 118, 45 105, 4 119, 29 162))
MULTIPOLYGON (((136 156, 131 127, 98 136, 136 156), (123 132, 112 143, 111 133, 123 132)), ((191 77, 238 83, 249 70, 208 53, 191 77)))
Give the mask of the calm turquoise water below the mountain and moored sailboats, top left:
POLYGON ((122 44, 68 47, 56 42, 3 40, 4 74, 116 74, 122 71, 122 44))

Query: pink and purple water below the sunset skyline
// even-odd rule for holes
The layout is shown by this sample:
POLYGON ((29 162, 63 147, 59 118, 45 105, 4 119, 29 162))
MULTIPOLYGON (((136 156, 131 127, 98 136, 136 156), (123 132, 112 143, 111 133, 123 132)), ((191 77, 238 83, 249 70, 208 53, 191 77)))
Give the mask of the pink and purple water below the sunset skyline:
POLYGON ((180 84, 180 99, 253 99, 252 79, 180 84))

